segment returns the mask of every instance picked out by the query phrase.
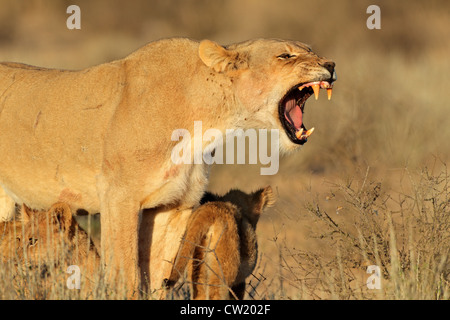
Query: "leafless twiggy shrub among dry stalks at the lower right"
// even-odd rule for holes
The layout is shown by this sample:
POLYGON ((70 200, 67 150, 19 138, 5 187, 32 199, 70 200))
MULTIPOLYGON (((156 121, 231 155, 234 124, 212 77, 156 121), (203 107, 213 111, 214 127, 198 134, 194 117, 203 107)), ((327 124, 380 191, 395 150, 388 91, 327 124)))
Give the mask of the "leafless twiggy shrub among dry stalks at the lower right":
MULTIPOLYGON (((339 215, 319 201, 306 204, 319 225, 313 237, 324 250, 311 251, 284 245, 291 275, 301 298, 313 299, 448 299, 450 281, 450 187, 444 169, 427 168, 408 181, 402 191, 387 190, 383 183, 350 179, 333 184, 328 199, 339 215), (351 219, 349 218, 351 217, 351 219), (341 221, 338 221, 341 220, 341 221), (381 289, 369 290, 369 265, 381 270, 381 289)), ((285 260, 287 261, 287 259, 285 260)))

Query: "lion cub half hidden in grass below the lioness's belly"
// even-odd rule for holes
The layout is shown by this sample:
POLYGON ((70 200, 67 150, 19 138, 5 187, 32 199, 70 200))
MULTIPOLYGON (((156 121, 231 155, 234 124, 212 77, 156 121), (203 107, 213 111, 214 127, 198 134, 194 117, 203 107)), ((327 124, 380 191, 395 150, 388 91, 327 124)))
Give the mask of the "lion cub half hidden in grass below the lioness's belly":
MULTIPOLYGON (((65 283, 69 277, 68 266, 76 265, 80 268, 81 291, 90 294, 93 290, 100 275, 100 256, 88 234, 72 218, 68 205, 57 203, 46 212, 22 206, 21 220, 16 217, 0 223, 0 230, 3 267, 39 270, 40 288, 54 290, 55 283, 65 283)), ((15 278, 14 273, 11 277, 15 278)), ((27 291, 27 284, 18 279, 17 290, 27 291)))

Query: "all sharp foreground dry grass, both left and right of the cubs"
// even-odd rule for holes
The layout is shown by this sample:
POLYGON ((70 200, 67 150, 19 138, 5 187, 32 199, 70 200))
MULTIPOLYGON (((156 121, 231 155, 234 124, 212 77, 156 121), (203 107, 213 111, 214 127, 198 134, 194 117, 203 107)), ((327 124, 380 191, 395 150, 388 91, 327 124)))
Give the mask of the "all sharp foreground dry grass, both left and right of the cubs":
MULTIPOLYGON (((450 175, 405 169, 397 186, 374 179, 370 170, 359 178, 328 182, 325 192, 298 200, 283 218, 292 228, 280 232, 266 221, 261 257, 250 277, 251 299, 448 299, 450 294, 450 175), (307 241, 292 234, 298 225, 313 226, 307 241), (290 233, 290 234, 289 234, 290 233), (274 251, 271 253, 271 251, 274 251), (369 265, 381 269, 381 289, 369 290, 369 265)), ((260 232, 261 233, 261 232, 260 232)), ((260 238, 262 237, 262 234, 260 238)), ((2 239, 3 240, 3 239, 2 239)), ((122 299, 122 283, 108 284, 92 275, 93 288, 69 290, 65 271, 70 264, 64 243, 43 254, 41 264, 23 255, 0 268, 2 299, 122 299), (43 266, 45 264, 45 266, 43 266), (19 267, 18 267, 19 266, 19 267)), ((85 282, 83 281, 83 285, 85 282)), ((169 293, 189 298, 186 287, 169 293)), ((143 294, 142 299, 151 299, 143 294)))

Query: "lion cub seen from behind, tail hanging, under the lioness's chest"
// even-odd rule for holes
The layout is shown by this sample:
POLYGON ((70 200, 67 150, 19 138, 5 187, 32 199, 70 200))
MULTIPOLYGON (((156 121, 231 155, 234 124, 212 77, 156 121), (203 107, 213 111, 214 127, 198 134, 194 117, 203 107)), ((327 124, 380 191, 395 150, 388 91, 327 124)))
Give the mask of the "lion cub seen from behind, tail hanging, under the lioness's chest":
POLYGON ((243 299, 245 279, 258 258, 256 224, 263 210, 274 203, 271 187, 251 194, 206 193, 189 217, 167 286, 173 287, 189 265, 194 299, 243 299))

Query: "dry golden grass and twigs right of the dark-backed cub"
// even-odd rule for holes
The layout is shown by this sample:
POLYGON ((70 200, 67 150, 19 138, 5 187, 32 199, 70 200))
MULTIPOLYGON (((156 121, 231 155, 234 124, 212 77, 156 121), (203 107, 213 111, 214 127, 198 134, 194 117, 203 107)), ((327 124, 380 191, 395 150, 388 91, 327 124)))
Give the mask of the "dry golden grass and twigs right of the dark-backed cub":
MULTIPOLYGON (((260 229, 256 299, 444 299, 450 295, 450 186, 440 171, 312 183, 260 229), (338 181, 338 182, 336 182, 338 181), (317 185, 319 185, 317 187, 317 185), (368 266, 381 289, 369 289, 368 266)), ((254 290, 252 289, 254 288, 254 290)))

